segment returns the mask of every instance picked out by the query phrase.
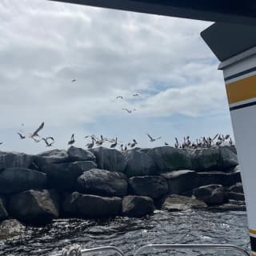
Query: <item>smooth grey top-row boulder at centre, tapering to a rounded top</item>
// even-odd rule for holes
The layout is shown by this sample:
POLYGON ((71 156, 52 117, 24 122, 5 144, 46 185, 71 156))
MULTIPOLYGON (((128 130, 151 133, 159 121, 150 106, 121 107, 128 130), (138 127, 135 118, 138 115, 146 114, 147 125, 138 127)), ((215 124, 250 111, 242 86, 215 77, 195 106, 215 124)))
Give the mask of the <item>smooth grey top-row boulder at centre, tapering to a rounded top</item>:
POLYGON ((140 149, 126 151, 126 170, 127 177, 145 176, 158 173, 154 160, 146 151, 140 149))

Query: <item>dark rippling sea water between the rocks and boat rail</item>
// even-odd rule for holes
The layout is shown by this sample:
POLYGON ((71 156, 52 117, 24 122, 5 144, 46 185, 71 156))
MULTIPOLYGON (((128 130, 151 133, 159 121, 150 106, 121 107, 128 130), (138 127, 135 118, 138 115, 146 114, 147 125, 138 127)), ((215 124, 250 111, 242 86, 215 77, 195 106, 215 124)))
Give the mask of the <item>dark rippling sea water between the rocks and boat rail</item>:
MULTIPOLYGON (((0 255, 54 255, 74 243, 82 248, 117 246, 126 255, 133 255, 140 246, 149 243, 230 243, 250 250, 246 212, 156 210, 145 218, 58 219, 48 226, 27 226, 20 237, 0 242, 0 255)), ((156 254, 238 255, 223 250, 154 250, 144 255, 156 254)))

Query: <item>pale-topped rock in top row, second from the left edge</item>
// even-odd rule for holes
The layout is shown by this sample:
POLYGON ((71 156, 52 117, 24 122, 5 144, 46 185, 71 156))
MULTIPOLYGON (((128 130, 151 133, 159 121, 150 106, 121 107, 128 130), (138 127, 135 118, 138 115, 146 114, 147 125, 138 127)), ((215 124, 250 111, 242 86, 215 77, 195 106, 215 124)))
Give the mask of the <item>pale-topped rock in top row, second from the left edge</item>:
POLYGON ((50 165, 51 163, 68 162, 69 155, 66 150, 50 150, 37 154, 34 156, 35 164, 42 169, 42 167, 50 165))

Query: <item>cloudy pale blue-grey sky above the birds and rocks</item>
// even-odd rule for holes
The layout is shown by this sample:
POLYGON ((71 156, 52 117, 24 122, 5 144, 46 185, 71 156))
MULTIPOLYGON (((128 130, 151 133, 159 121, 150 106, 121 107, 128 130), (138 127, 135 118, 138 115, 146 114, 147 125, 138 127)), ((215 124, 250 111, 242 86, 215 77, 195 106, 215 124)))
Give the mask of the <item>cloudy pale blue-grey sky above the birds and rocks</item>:
POLYGON ((135 138, 140 147, 174 145, 175 137, 187 135, 233 137, 222 71, 200 38, 210 25, 46 0, 1 0, 0 150, 67 149, 71 134, 74 146, 83 148, 88 134, 124 144, 135 138), (19 139, 18 131, 30 134, 42 122, 40 135, 53 136, 53 147, 19 139), (149 142, 147 133, 162 139, 149 142))

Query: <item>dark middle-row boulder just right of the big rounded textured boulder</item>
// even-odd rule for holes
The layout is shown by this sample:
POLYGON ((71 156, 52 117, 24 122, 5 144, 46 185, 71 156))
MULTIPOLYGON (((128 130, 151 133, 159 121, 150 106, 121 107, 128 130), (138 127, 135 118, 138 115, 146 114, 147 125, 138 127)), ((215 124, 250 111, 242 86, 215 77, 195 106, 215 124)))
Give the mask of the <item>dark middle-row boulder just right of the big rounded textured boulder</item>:
POLYGON ((168 185, 161 176, 138 176, 129 178, 132 194, 157 199, 168 193, 168 185))

